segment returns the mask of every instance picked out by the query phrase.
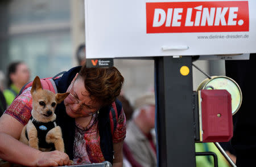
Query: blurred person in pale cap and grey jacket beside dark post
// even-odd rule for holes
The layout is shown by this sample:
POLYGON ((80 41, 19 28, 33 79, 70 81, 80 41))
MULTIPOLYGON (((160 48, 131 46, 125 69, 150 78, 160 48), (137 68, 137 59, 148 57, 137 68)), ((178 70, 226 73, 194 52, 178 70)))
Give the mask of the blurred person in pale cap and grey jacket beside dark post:
POLYGON ((124 145, 127 144, 134 160, 138 162, 136 166, 156 166, 156 147, 151 135, 154 127, 155 95, 148 93, 135 100, 135 111, 127 124, 124 145))

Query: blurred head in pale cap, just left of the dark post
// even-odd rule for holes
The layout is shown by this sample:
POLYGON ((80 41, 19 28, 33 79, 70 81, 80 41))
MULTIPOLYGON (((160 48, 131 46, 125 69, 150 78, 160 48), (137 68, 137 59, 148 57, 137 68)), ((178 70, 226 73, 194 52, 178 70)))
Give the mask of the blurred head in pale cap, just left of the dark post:
POLYGON ((155 95, 150 92, 135 100, 135 112, 133 114, 135 123, 144 134, 155 127, 155 95))

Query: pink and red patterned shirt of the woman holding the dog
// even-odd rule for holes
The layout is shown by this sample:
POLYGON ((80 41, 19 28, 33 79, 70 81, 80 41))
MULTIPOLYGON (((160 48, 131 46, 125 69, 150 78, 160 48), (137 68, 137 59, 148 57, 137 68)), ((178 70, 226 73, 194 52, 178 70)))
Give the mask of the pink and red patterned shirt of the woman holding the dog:
MULTIPOLYGON (((32 99, 31 87, 24 90, 22 95, 17 97, 6 110, 6 114, 16 118, 20 123, 26 125, 31 117, 32 99)), ((126 119, 123 109, 118 118, 117 128, 114 131, 113 143, 121 142, 126 135, 126 119)), ((100 134, 98 131, 97 115, 93 115, 92 120, 86 129, 76 125, 75 142, 73 147, 75 164, 90 164, 105 161, 100 148, 100 134)))

